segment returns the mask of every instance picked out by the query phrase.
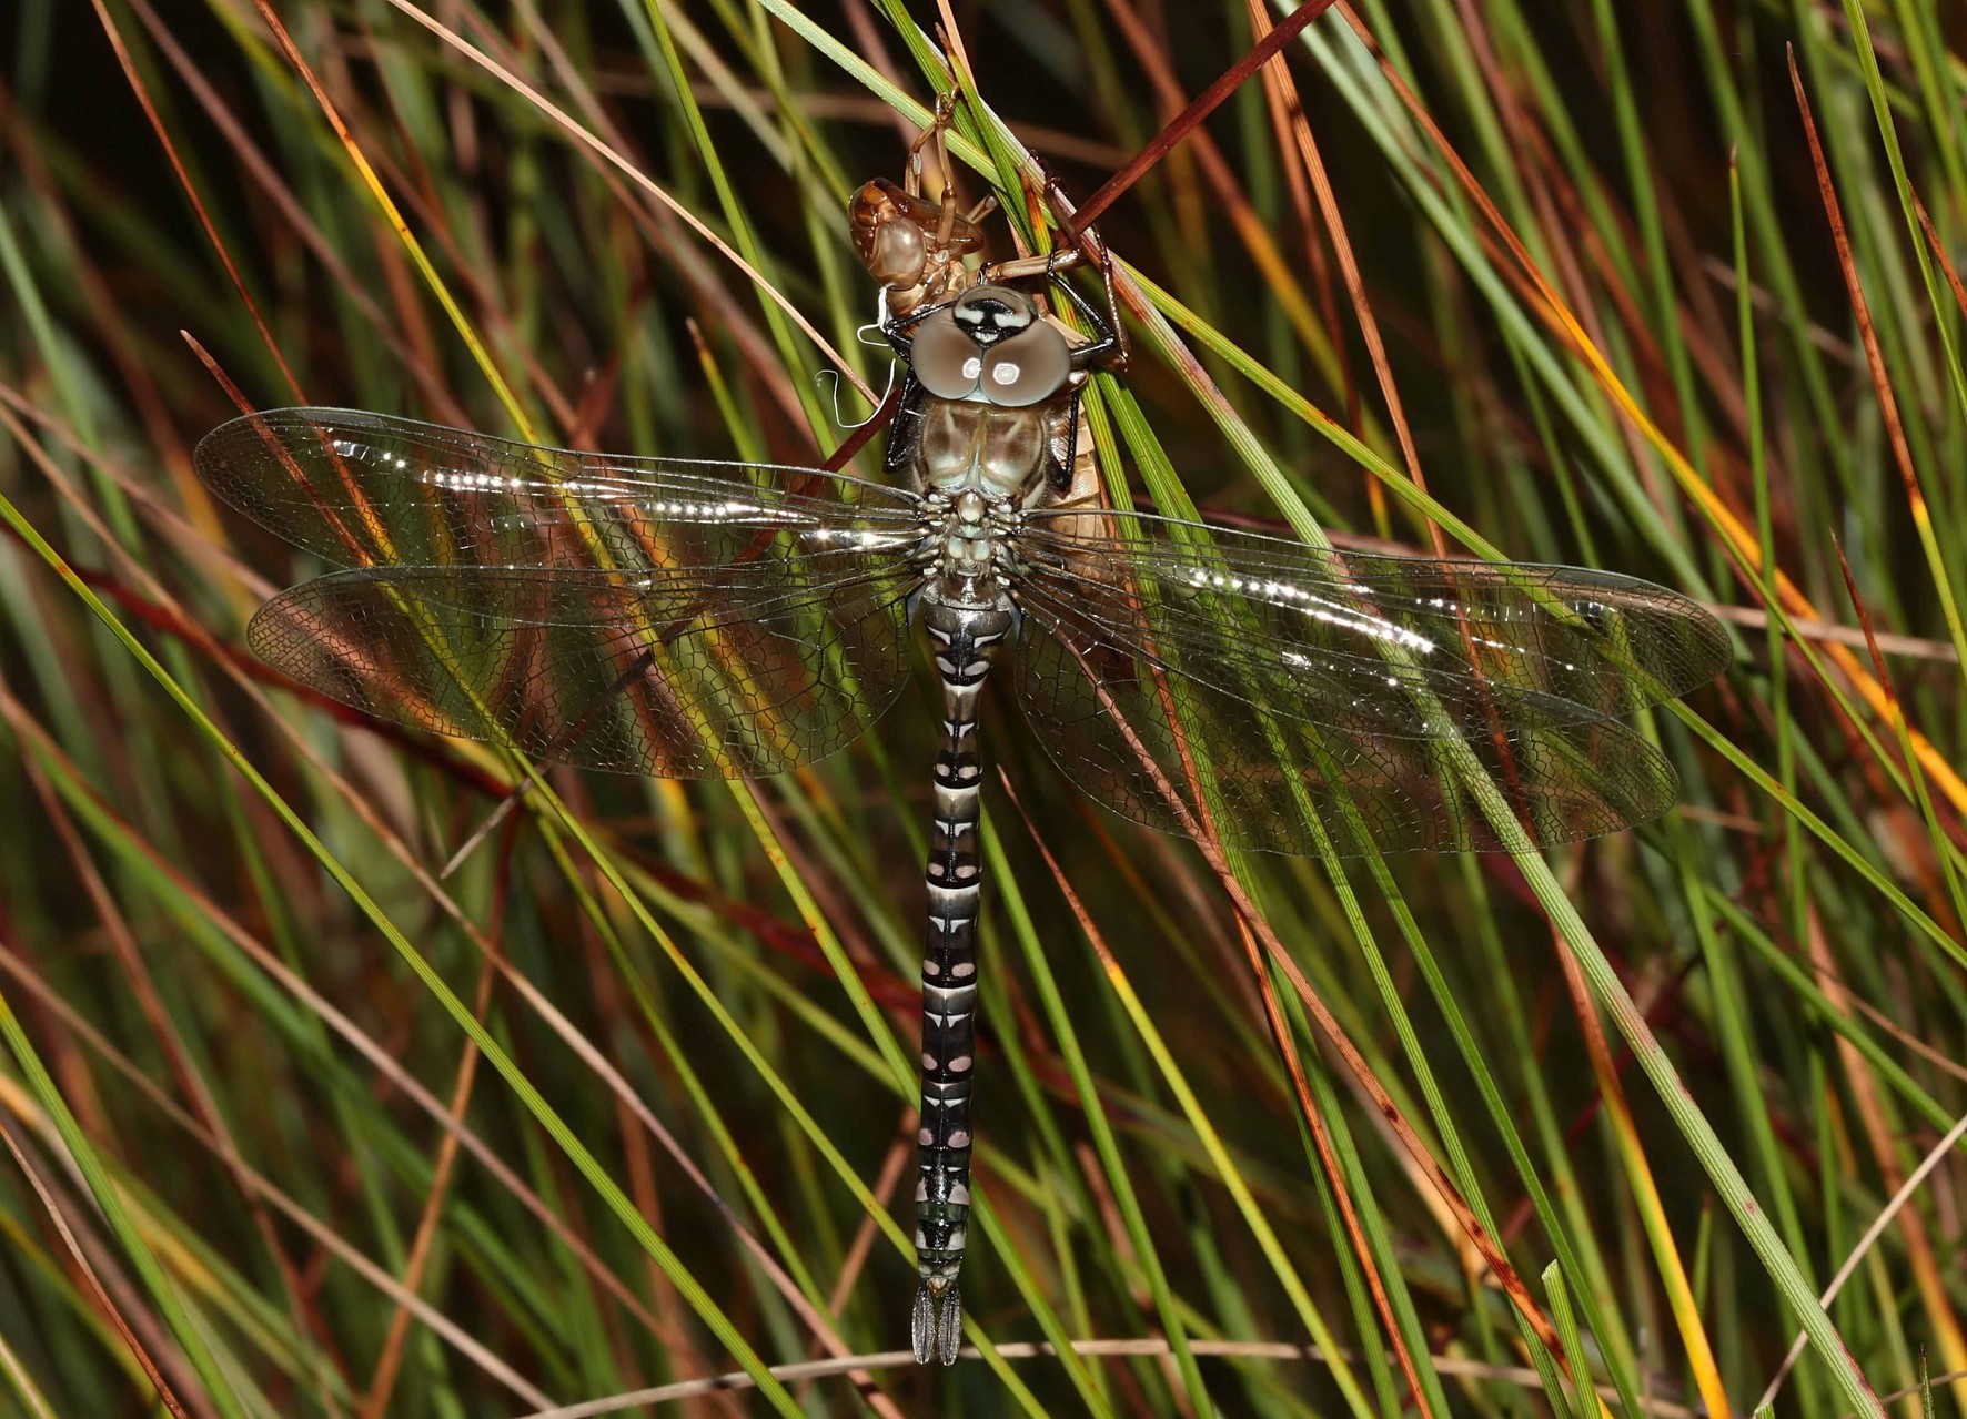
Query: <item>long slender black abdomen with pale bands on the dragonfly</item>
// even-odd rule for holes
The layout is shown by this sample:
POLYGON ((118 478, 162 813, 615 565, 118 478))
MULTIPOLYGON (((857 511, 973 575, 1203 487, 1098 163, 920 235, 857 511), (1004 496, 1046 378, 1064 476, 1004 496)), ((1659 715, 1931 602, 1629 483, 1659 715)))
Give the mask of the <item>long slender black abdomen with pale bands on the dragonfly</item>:
POLYGON ((978 694, 997 647, 1011 633, 1009 607, 923 601, 923 627, 942 676, 942 749, 936 755, 936 822, 928 837, 928 926, 923 941, 923 1132, 915 1185, 915 1356, 954 1364, 962 1342, 970 1217, 970 1083, 976 1069, 978 910, 978 694))

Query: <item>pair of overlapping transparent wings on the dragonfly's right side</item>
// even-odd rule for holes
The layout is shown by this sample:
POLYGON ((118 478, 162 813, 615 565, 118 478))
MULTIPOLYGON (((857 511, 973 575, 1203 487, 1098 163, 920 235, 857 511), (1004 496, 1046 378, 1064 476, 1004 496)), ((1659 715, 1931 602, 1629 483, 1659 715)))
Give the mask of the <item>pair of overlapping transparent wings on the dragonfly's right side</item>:
POLYGON ((1259 851, 1491 851, 1485 772, 1536 843, 1664 812, 1609 715, 1711 678, 1664 588, 1576 568, 1338 556, 1125 513, 1033 517, 1015 682, 1054 763, 1137 822, 1259 851), (1098 529, 1098 535, 1096 535, 1098 529))

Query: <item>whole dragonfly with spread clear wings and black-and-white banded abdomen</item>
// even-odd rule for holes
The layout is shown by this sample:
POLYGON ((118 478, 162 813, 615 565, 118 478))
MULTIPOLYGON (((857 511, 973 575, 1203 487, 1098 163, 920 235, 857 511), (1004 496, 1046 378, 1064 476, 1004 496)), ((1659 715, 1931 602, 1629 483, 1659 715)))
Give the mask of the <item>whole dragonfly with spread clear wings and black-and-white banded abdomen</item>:
POLYGON ((889 197, 856 199, 905 368, 883 480, 348 409, 246 415, 195 464, 336 568, 252 617, 260 656, 370 715, 533 759, 686 780, 806 768, 903 696, 921 633, 940 741, 911 1329, 919 1362, 952 1364, 976 1150, 980 721, 999 660, 1037 743, 1103 808, 1223 847, 1347 857, 1524 851, 1666 812, 1674 768, 1623 719, 1719 674, 1729 639, 1629 576, 1334 550, 1088 497, 1080 401, 1127 360, 1111 263, 1102 309, 1064 259, 972 267, 970 246, 950 250, 968 218, 889 197), (1048 297, 1092 334, 1068 334, 1048 297))

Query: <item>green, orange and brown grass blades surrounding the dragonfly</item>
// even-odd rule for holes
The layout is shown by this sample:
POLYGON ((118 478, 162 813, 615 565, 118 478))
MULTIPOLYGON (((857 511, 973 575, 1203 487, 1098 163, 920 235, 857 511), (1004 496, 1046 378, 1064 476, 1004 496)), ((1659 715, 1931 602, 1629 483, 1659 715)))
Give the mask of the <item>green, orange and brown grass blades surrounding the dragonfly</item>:
POLYGON ((1103 218, 1109 485, 1650 576, 1737 662, 1666 820, 1245 918, 995 706, 956 1370, 893 1354, 928 678, 439 882, 511 768, 242 649, 319 568, 193 482, 236 409, 816 462, 936 26, 1029 240, 1292 8, 0 6, 0 1411, 1961 1405, 1959 6, 1357 0, 1103 218))

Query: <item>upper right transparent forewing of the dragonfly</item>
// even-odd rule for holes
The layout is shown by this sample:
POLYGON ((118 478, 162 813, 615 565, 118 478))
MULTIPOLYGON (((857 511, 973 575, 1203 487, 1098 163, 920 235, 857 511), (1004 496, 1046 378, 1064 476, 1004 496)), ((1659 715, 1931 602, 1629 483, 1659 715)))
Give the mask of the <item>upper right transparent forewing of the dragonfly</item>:
POLYGON ((1237 690, 1288 666, 1298 713, 1359 711, 1381 735, 1485 735, 1499 704, 1540 721, 1625 715, 1731 654, 1699 603, 1576 566, 1334 552, 1111 511, 1027 515, 1017 548, 1041 582, 1107 588, 1115 633, 1139 601, 1151 645, 1190 674, 1237 690))

